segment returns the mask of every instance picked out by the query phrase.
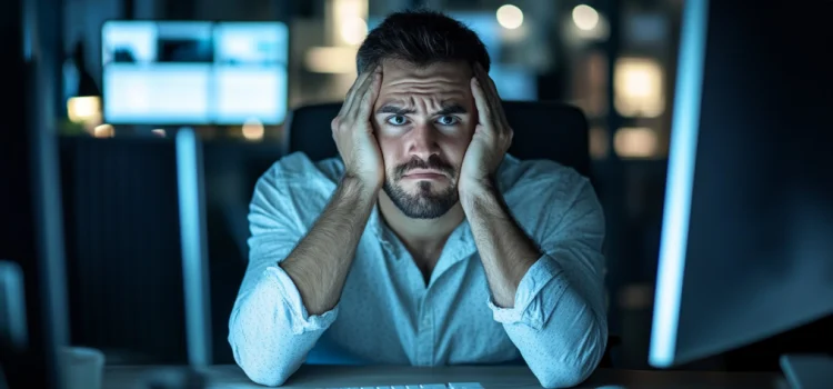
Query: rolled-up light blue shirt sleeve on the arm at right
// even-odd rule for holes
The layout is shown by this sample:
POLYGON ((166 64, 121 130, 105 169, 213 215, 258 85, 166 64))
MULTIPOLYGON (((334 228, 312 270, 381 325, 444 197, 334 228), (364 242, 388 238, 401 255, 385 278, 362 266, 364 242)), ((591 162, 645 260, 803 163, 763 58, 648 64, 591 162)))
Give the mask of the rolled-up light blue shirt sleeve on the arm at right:
POLYGON ((571 206, 559 212, 561 221, 536 233, 543 256, 518 286, 514 307, 488 302, 546 388, 581 383, 608 342, 604 216, 589 181, 582 180, 572 191, 571 206))

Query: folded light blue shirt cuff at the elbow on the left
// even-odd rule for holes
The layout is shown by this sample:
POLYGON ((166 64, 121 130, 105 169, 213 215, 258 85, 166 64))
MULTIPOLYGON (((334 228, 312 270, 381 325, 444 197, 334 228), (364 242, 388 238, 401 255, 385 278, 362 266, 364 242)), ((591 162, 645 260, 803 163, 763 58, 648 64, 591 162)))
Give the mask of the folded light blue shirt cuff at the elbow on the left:
POLYGON ((278 266, 270 266, 264 271, 264 276, 265 280, 273 283, 279 290, 283 300, 283 309, 289 313, 285 316, 292 333, 301 335, 308 331, 323 330, 335 321, 335 317, 339 315, 338 303, 324 313, 310 316, 301 300, 301 292, 283 269, 278 266))

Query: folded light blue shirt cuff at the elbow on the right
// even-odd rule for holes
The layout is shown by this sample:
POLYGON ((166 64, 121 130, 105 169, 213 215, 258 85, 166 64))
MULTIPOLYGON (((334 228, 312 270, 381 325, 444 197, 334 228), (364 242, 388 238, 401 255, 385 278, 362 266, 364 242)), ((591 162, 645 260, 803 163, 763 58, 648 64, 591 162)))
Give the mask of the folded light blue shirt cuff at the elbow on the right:
POLYGON ((500 323, 524 323, 540 330, 566 287, 561 266, 549 255, 543 255, 526 270, 518 285, 514 307, 498 307, 491 293, 488 305, 494 320, 500 323), (545 288, 546 291, 542 292, 545 288))

